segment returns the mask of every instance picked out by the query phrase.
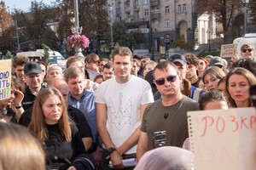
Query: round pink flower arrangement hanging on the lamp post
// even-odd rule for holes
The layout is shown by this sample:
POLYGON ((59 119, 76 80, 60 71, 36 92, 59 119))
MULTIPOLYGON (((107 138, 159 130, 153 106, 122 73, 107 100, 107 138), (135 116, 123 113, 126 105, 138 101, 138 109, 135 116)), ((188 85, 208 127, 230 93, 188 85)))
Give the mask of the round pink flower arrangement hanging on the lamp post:
POLYGON ((72 48, 79 46, 83 50, 89 47, 89 38, 84 35, 73 35, 67 37, 67 50, 70 51, 72 48))

